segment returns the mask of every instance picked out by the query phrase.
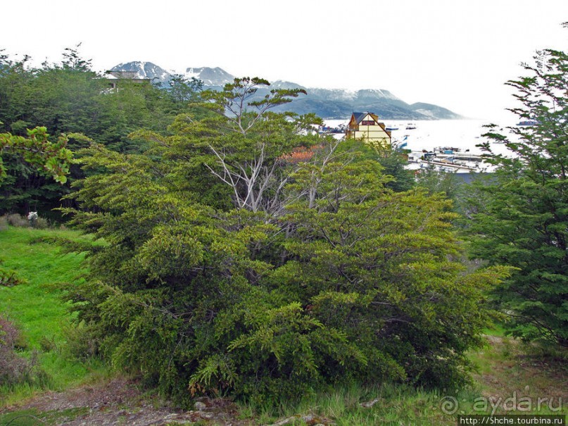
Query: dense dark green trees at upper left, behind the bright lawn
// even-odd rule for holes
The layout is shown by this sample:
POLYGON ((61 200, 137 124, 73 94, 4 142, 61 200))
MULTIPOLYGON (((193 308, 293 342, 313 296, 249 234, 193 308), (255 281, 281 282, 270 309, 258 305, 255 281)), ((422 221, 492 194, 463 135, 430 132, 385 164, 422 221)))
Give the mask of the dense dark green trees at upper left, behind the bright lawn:
MULTIPOLYGON (((141 141, 128 135, 140 129, 167 132, 175 116, 186 111, 201 90, 201 82, 181 77, 161 89, 127 79, 111 89, 106 78, 91 70, 91 62, 80 56, 78 46, 65 49, 61 63, 33 68, 28 66, 29 59, 15 60, 0 51, 0 134, 27 137, 27 129, 44 127, 43 134, 52 135, 47 141, 61 145, 65 137, 65 149, 72 152, 88 145, 78 134, 113 151, 139 152, 141 141)), ((48 214, 61 205, 61 196, 70 189, 38 173, 36 165, 20 154, 2 153, 1 170, 6 176, 0 188, 0 214, 30 210, 48 214)), ((63 175, 56 173, 59 179, 63 175)), ((80 177, 82 172, 71 167, 70 182, 80 177)))

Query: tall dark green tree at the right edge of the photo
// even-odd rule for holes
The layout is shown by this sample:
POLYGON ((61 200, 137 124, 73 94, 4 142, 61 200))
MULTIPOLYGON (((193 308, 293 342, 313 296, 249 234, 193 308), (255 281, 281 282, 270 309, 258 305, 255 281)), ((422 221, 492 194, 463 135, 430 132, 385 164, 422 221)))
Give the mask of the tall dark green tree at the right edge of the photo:
POLYGON ((494 292, 513 335, 568 346, 568 55, 543 51, 525 70, 511 111, 536 125, 488 134, 513 156, 488 156, 499 167, 477 188, 474 253, 517 268, 494 292))

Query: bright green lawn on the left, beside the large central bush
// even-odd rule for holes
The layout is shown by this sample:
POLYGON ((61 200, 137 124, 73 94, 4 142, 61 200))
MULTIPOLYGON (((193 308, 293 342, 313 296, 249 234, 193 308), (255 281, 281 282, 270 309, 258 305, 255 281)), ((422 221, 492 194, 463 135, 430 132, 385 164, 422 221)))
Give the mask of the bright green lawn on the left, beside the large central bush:
MULTIPOLYGON (((88 239, 71 230, 1 230, 0 266, 15 270, 25 283, 0 286, 0 312, 20 330, 19 346, 23 353, 29 356, 32 351, 39 351, 39 364, 48 377, 44 385, 64 389, 89 376, 104 375, 105 367, 97 361, 81 363, 63 355, 65 330, 72 318, 58 284, 81 280, 84 253, 63 253, 58 246, 37 242, 42 237, 88 239)), ((29 384, 0 387, 0 403, 13 403, 38 390, 38 385, 29 384)))

